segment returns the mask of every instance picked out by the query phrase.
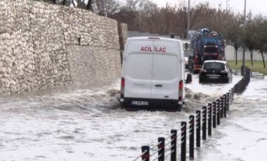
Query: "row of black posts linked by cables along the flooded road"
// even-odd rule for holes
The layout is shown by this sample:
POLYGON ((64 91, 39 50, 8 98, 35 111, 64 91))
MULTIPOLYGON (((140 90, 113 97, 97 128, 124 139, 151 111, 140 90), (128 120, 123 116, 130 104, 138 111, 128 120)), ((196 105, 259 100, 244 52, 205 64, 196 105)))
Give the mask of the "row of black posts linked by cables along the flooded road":
POLYGON ((212 128, 216 128, 221 124, 221 118, 227 117, 227 111, 230 109, 230 103, 233 102, 234 94, 241 94, 244 92, 249 84, 250 76, 250 69, 245 67, 245 76, 236 83, 229 92, 223 94, 223 96, 216 99, 215 102, 209 103, 207 106, 202 106, 202 110, 196 111, 195 116, 189 116, 188 123, 183 121, 180 129, 171 130, 171 135, 166 139, 164 137, 159 137, 157 145, 152 146, 152 148, 150 148, 150 146, 141 146, 141 155, 133 161, 139 160, 140 158, 142 161, 164 161, 169 157, 171 161, 176 161, 178 146, 181 146, 181 161, 185 161, 187 139, 189 141, 189 158, 195 158, 195 144, 196 147, 201 146, 201 131, 202 140, 206 140, 207 135, 211 136, 212 128), (152 159, 152 157, 154 158, 152 159))

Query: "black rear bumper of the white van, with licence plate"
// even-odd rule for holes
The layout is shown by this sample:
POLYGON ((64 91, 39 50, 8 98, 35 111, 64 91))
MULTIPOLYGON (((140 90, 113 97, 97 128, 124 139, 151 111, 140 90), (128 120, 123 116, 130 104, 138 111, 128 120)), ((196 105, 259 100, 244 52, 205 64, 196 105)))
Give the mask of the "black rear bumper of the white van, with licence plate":
POLYGON ((178 99, 124 98, 124 102, 120 103, 127 111, 180 111, 182 106, 178 104, 178 99))

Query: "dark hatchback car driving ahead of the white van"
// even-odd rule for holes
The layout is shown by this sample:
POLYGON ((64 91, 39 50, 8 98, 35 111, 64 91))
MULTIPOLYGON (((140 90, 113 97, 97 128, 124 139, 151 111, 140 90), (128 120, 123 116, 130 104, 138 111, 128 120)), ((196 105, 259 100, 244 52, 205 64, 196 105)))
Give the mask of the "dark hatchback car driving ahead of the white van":
POLYGON ((200 83, 231 83, 233 75, 226 61, 206 60, 200 70, 200 83))

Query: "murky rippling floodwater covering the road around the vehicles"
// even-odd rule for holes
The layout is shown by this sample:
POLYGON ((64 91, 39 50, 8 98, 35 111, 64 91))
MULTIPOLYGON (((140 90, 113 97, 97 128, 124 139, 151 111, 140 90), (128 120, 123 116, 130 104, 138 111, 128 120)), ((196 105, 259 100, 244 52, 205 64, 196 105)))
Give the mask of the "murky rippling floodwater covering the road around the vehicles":
MULTIPOLYGON (((0 160, 134 160, 141 146, 155 146, 158 137, 180 130, 182 121, 188 122, 240 78, 200 85, 194 75, 181 112, 120 109, 119 78, 1 97, 0 160)), ((235 95, 228 117, 195 149, 195 160, 266 160, 266 114, 266 80, 252 78, 247 90, 235 95)))

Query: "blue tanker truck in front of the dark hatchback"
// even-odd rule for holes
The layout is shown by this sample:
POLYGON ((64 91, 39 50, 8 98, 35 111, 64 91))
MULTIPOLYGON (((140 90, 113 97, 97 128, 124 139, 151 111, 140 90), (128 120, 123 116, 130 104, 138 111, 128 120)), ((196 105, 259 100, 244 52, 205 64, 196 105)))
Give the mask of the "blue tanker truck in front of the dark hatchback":
POLYGON ((188 70, 199 73, 205 60, 225 60, 224 40, 216 31, 200 29, 190 41, 193 56, 188 59, 188 70))

